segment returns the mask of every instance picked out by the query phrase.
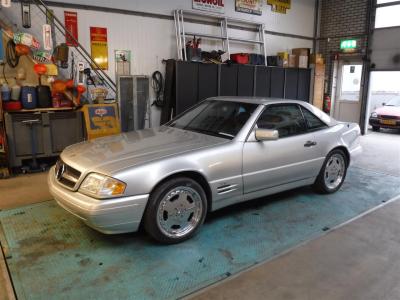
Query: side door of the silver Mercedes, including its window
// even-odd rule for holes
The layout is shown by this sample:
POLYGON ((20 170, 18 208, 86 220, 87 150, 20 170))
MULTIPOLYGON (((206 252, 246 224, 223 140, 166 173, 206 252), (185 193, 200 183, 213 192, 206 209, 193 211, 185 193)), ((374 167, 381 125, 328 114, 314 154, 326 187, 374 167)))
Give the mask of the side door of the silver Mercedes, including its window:
POLYGON ((275 129, 279 139, 257 141, 254 130, 243 147, 244 193, 260 192, 315 177, 318 151, 297 104, 266 106, 255 128, 275 129))

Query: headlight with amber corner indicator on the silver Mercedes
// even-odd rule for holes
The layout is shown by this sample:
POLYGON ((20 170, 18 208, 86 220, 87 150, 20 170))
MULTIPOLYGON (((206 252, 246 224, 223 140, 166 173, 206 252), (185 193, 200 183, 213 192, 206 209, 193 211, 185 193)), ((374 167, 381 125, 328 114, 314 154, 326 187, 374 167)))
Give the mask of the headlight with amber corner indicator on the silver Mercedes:
POLYGON ((79 191, 96 198, 111 198, 125 192, 126 184, 117 179, 98 173, 89 174, 82 182, 79 191))

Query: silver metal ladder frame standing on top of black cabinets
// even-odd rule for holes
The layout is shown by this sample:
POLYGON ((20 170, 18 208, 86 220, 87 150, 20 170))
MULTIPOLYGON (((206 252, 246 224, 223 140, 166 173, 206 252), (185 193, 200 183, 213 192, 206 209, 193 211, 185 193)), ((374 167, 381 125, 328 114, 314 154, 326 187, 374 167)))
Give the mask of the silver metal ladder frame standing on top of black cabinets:
POLYGON ((231 42, 259 45, 259 51, 260 51, 259 54, 266 56, 264 24, 262 23, 251 22, 243 19, 228 18, 216 14, 202 13, 191 10, 182 10, 182 9, 174 10, 174 20, 175 20, 175 33, 176 33, 176 47, 178 51, 178 59, 180 60, 187 60, 187 53, 186 53, 187 36, 197 36, 204 39, 220 40, 223 51, 225 51, 229 55, 229 57, 231 55, 230 51, 231 42), (188 19, 187 17, 190 17, 190 20, 193 21, 203 21, 211 24, 213 23, 219 24, 220 34, 213 35, 201 32, 186 31, 185 19, 187 20, 188 19), (230 27, 236 27, 239 29, 248 28, 250 30, 254 30, 257 33, 258 37, 256 39, 243 39, 239 37, 230 36, 228 33, 228 29, 230 27))

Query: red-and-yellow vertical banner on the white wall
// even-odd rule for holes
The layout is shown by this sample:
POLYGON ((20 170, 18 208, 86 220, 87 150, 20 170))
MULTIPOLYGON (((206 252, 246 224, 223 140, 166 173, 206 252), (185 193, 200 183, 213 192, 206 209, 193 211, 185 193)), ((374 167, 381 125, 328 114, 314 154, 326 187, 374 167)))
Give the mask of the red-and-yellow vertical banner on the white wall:
MULTIPOLYGON (((98 64, 100 69, 108 70, 108 43, 107 28, 90 27, 90 48, 92 59, 98 64)), ((96 66, 92 66, 97 69, 96 66)))

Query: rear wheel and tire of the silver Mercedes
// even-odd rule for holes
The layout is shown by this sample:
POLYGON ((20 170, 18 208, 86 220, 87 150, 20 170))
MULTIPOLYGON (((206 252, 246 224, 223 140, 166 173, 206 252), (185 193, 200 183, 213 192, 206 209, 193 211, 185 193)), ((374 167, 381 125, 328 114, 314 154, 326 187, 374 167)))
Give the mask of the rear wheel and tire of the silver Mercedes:
POLYGON ((329 152, 313 185, 322 194, 336 192, 342 186, 349 161, 343 150, 335 149, 329 152), (337 173, 337 174, 336 174, 337 173))

